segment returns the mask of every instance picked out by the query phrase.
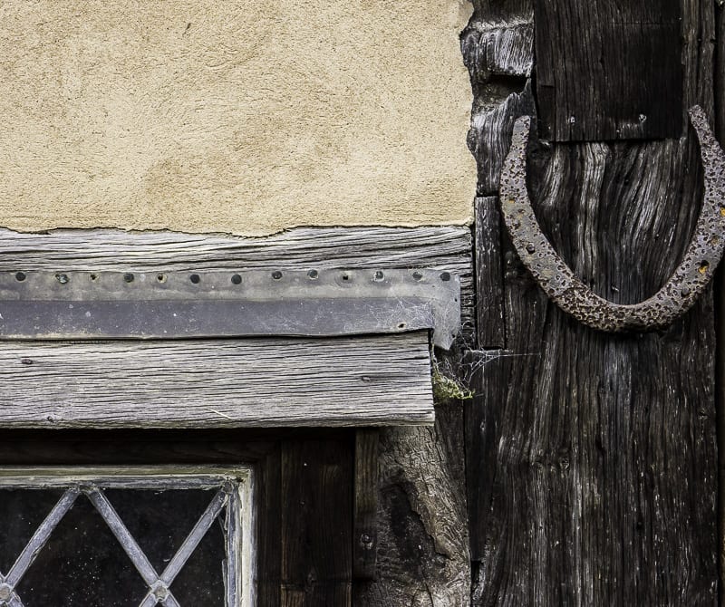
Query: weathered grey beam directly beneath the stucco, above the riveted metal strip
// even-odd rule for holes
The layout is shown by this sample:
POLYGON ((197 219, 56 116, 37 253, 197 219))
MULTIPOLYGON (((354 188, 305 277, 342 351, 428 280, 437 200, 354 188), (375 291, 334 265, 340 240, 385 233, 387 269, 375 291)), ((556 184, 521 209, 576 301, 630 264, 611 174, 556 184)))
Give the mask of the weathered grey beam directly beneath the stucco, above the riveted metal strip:
POLYGON ((266 238, 177 232, 0 229, 0 272, 124 270, 130 272, 309 268, 448 270, 461 279, 462 337, 474 327, 471 234, 468 227, 304 227, 266 238))

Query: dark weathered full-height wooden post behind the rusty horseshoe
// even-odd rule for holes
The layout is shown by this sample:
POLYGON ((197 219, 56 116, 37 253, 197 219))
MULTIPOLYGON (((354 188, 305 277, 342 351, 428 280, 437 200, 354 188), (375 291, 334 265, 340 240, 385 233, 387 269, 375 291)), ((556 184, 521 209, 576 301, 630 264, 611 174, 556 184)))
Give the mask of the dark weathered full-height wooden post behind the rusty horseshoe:
POLYGON ((714 3, 474 4, 462 44, 491 300, 467 419, 474 603, 715 604, 711 290, 665 328, 588 328, 549 301, 497 211, 513 122, 534 116, 527 186, 556 252, 611 302, 654 294, 701 209, 686 110, 715 117, 714 3))

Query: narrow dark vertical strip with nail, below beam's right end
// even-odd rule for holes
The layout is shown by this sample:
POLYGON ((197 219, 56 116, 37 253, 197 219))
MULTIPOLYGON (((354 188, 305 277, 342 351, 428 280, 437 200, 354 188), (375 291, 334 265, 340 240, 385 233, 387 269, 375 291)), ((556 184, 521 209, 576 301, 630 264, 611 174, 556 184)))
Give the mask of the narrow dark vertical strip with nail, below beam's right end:
POLYGON ((353 577, 372 580, 378 554, 378 451, 380 431, 355 431, 353 577))

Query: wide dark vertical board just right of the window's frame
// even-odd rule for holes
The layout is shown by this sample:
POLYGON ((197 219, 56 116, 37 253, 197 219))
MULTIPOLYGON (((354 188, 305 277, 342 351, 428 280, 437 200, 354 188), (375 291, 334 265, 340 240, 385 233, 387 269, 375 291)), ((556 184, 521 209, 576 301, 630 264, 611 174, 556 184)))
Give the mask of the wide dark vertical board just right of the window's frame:
POLYGON ((282 607, 350 607, 353 439, 282 445, 282 607))

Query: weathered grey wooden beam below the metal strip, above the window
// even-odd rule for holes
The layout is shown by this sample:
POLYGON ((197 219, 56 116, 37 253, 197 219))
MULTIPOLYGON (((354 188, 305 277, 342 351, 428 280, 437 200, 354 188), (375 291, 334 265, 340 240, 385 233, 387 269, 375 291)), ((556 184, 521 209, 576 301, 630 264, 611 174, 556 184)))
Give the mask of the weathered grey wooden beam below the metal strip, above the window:
POLYGON ((426 332, 0 342, 5 428, 396 425, 430 423, 432 407, 426 332))

